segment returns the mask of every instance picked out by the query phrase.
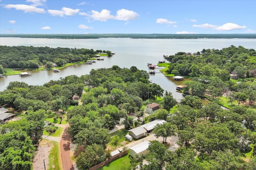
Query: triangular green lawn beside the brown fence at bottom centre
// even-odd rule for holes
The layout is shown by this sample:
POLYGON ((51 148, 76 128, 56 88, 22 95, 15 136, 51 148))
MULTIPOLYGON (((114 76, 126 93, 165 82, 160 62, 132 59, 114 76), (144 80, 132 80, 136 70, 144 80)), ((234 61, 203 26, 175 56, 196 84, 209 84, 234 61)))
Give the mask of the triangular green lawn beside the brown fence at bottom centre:
POLYGON ((121 158, 118 158, 114 160, 113 162, 110 162, 106 164, 105 166, 102 166, 101 168, 98 168, 98 170, 123 170, 123 168, 131 166, 129 154, 126 154, 122 156, 121 158))

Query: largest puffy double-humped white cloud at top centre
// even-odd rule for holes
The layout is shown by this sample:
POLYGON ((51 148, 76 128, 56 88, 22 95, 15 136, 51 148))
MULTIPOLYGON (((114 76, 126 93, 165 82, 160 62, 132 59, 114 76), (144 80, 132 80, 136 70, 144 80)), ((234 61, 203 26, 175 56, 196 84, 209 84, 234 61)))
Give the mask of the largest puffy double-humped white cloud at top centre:
MULTIPOLYGON (((97 21, 107 21, 107 20, 122 20, 122 21, 128 21, 128 20, 135 20, 138 18, 138 14, 134 11, 121 9, 116 12, 116 16, 111 15, 110 10, 101 10, 101 12, 92 10, 91 12, 91 18, 93 20, 97 21)), ((82 13, 83 15, 86 15, 86 13, 82 13)))

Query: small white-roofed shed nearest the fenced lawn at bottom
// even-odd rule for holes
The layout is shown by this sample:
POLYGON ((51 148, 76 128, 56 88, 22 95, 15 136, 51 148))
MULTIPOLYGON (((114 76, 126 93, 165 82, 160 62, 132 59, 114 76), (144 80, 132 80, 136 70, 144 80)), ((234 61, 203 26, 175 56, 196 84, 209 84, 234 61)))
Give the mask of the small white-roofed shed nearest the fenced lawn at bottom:
POLYGON ((129 154, 130 156, 132 156, 133 158, 136 158, 136 155, 146 155, 148 152, 148 147, 150 145, 150 142, 148 141, 144 141, 138 145, 135 145, 133 147, 130 147, 129 149, 129 154))

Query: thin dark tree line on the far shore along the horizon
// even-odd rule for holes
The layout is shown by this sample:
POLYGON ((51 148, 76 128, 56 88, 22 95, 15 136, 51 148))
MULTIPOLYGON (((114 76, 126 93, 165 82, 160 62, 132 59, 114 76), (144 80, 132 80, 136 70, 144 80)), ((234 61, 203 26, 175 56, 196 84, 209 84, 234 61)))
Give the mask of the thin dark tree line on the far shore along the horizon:
POLYGON ((96 38, 146 38, 146 39, 250 38, 250 39, 255 39, 256 34, 0 34, 0 37, 60 38, 60 39, 96 39, 96 38))

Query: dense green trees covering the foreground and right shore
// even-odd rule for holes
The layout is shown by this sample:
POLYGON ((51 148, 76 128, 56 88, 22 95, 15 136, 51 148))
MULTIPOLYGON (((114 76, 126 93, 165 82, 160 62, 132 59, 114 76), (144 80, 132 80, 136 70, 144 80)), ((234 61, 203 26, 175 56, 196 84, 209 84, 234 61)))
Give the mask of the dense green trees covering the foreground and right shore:
POLYGON ((0 126, 0 169, 31 169, 43 121, 52 115, 60 119, 59 109, 67 110, 72 105, 66 116, 68 132, 77 145, 74 158, 80 170, 110 158, 108 146, 119 146, 120 138, 111 137, 108 132, 121 117, 125 118, 124 131, 164 119, 167 123, 157 126, 154 135, 163 138, 163 143, 166 137, 178 136, 177 150, 170 151, 163 143, 151 141, 148 154, 138 160, 130 158, 127 170, 135 165, 143 170, 254 170, 255 54, 254 49, 230 46, 203 49, 198 55, 179 52, 169 56, 168 72, 191 78, 183 82, 183 93, 187 95, 180 103, 171 92, 149 83, 148 72, 135 66, 93 69, 88 75, 67 76, 43 86, 10 82, 0 92, 0 106, 11 108, 13 113, 22 115, 22 120, 0 126), (230 73, 238 79, 231 79, 230 73), (72 100, 73 95, 81 96, 80 104, 72 100), (198 96, 214 102, 203 104, 198 96), (144 106, 159 98, 161 109, 140 121, 144 106), (224 99, 228 109, 216 104, 224 99), (132 113, 138 120, 130 117, 132 113), (246 145, 247 141, 251 144, 246 145), (144 158, 148 164, 142 165, 144 158))

